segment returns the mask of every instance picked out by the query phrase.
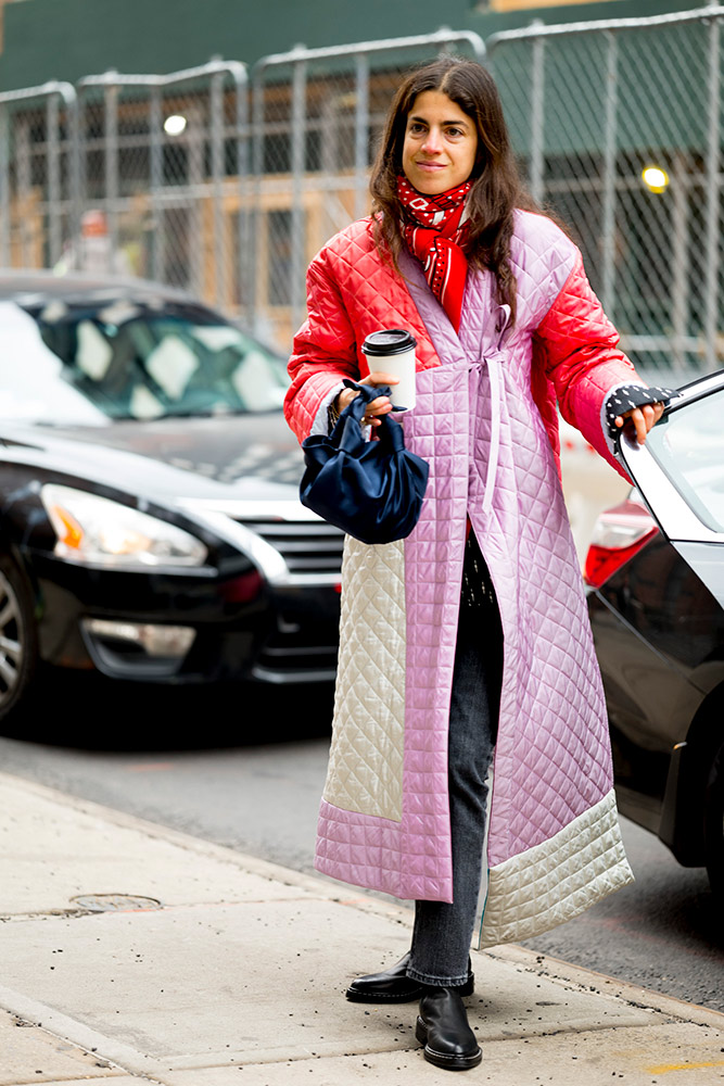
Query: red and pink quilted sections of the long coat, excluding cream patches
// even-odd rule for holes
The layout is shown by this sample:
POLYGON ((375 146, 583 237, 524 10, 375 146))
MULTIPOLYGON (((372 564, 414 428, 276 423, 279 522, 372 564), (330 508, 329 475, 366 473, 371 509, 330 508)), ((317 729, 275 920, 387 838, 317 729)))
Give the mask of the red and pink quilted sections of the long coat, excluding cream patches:
MULTIPOLYGON (((447 717, 466 518, 493 578, 505 666, 488 864, 554 837, 611 790, 602 689, 557 471, 555 396, 609 459, 606 392, 635 379, 572 242, 518 213, 511 248, 518 317, 470 274, 455 333, 417 262, 405 281, 378 257, 366 223, 309 272, 309 318, 290 363, 285 409, 300 438, 341 376, 358 376, 368 332, 399 326, 419 343, 407 444, 429 460, 422 516, 405 541, 406 692, 402 819, 322 800, 317 867, 401 898, 450 900, 447 717)), ((344 591, 344 586, 343 586, 344 591)), ((485 631, 481 630, 484 639, 485 631)))

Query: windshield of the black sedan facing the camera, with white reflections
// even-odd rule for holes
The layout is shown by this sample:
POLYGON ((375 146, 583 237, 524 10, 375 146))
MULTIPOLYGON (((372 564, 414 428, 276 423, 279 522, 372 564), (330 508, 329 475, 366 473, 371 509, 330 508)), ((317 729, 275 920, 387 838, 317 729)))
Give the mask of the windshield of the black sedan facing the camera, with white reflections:
POLYGON ((167 300, 0 302, 0 418, 54 426, 268 412, 280 357, 209 310, 167 300))

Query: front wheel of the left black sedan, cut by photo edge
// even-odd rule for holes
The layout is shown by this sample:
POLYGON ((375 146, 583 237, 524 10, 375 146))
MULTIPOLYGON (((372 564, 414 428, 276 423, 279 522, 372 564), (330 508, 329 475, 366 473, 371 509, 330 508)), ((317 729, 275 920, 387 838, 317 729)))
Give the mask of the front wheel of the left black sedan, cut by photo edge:
POLYGON ((38 664, 38 632, 27 578, 0 555, 0 722, 25 699, 38 664))

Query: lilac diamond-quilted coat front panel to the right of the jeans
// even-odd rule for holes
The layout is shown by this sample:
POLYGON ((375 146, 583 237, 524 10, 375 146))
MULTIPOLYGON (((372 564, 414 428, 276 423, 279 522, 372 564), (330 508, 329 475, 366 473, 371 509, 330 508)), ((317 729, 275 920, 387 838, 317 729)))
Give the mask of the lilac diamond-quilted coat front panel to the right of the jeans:
MULTIPOLYGON (((486 521, 478 510, 485 481, 481 466, 490 447, 490 383, 485 368, 471 371, 480 407, 471 426, 468 505, 496 585, 506 637, 491 866, 554 836, 611 785, 605 703, 581 576, 545 429, 526 394, 532 364, 526 331, 549 308, 549 295, 533 283, 546 285, 551 277, 554 285, 566 282, 574 255, 570 243, 552 254, 528 253, 524 247, 517 253, 519 323, 506 341, 508 362, 500 367, 506 387, 501 444, 486 521)), ((484 286, 480 290, 484 303, 484 286)), ((471 357, 477 343, 487 342, 490 351, 494 343, 481 327, 484 305, 470 305, 469 312, 462 345, 471 357)))

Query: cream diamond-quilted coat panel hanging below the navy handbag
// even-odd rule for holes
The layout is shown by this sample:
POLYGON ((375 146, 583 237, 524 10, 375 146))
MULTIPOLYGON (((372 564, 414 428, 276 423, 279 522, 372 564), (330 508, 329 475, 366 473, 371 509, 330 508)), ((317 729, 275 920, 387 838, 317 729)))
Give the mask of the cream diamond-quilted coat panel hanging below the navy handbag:
POLYGON ((405 552, 347 535, 325 800, 399 822, 405 729, 405 552))

